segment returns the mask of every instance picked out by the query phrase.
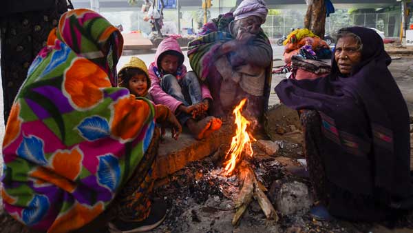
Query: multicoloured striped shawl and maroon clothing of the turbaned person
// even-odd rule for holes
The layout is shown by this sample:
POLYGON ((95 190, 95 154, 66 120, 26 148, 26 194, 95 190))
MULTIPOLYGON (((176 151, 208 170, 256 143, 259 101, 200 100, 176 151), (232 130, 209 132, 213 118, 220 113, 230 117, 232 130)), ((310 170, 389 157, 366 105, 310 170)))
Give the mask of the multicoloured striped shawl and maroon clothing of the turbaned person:
MULTIPOLYGON (((189 62, 193 71, 198 75, 198 78, 203 83, 208 83, 210 86, 212 97, 214 99, 211 112, 215 117, 221 117, 226 114, 225 112, 231 112, 232 107, 237 104, 234 104, 233 102, 240 101, 235 97, 239 97, 241 99, 248 98, 246 108, 251 110, 248 112, 251 112, 251 117, 260 119, 263 112, 268 108, 272 77, 271 72, 273 69, 273 50, 268 37, 266 37, 266 34, 264 34, 264 31, 262 30, 260 30, 255 39, 249 41, 248 46, 246 46, 248 47, 248 55, 251 57, 260 57, 260 59, 262 59, 262 57, 266 58, 266 56, 268 56, 268 65, 257 65, 265 70, 264 94, 261 96, 256 97, 252 94, 247 94, 244 92, 243 88, 240 88, 239 84, 235 83, 235 81, 223 81, 224 78, 222 77, 222 74, 218 72, 219 67, 216 65, 219 58, 216 57, 215 54, 218 53, 218 50, 220 50, 223 43, 235 39, 230 30, 231 22, 233 21, 233 14, 229 12, 220 15, 217 19, 213 19, 211 22, 207 23, 202 28, 202 32, 199 36, 188 44, 189 62)), ((227 54, 226 57, 230 63, 229 67, 226 68, 229 72, 240 68, 242 65, 247 65, 246 61, 239 61, 243 59, 239 59, 235 52, 227 54)), ((224 64, 220 63, 220 65, 224 64)), ((248 90, 245 87, 244 89, 248 90)))

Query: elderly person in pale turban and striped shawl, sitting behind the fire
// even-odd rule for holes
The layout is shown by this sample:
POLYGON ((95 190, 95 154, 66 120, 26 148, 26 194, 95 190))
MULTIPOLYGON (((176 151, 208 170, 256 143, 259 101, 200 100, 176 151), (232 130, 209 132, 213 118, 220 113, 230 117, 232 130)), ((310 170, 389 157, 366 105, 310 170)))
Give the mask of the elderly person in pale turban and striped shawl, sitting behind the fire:
POLYGON ((189 61, 214 99, 211 114, 221 117, 247 98, 246 112, 260 120, 268 105, 273 50, 260 28, 268 9, 263 0, 244 0, 235 12, 207 23, 189 43, 189 61))

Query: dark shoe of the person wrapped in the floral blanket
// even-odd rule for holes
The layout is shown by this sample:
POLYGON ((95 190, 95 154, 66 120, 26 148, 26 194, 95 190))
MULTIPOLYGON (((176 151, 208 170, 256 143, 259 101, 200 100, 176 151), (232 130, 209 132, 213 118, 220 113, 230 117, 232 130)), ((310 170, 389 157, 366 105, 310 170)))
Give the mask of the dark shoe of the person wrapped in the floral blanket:
POLYGON ((127 222, 116 220, 109 223, 109 232, 111 233, 134 233, 147 232, 152 230, 165 220, 167 216, 167 204, 162 199, 152 201, 151 212, 149 216, 139 222, 127 222))

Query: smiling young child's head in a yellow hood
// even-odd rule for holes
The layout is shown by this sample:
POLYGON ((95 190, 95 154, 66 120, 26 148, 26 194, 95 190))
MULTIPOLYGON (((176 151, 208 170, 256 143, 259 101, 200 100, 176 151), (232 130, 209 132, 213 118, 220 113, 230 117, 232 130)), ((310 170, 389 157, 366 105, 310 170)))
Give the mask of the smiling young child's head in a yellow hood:
POLYGON ((149 88, 151 80, 144 61, 137 57, 131 57, 129 61, 120 68, 118 72, 119 86, 127 88, 131 94, 136 97, 145 97, 151 99, 149 88))

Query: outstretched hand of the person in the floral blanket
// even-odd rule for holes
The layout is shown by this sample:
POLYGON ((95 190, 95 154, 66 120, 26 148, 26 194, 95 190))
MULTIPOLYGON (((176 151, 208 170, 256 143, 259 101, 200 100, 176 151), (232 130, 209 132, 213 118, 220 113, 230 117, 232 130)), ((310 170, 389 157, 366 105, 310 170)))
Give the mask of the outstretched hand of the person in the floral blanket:
POLYGON ((171 128, 171 136, 173 139, 178 140, 179 134, 182 132, 182 126, 175 114, 172 114, 171 110, 165 105, 156 105, 156 123, 161 125, 162 136, 165 135, 165 128, 171 128))

